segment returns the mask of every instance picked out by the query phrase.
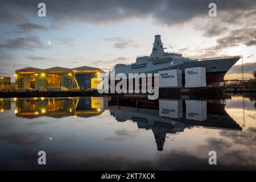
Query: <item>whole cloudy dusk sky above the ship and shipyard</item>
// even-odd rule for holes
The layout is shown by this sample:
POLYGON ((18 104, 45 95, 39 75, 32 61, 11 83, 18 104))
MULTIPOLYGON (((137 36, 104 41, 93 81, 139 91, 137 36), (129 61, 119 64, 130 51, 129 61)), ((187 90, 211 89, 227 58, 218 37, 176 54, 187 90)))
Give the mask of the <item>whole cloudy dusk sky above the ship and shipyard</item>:
MULTIPOLYGON (((25 67, 109 71, 150 54, 154 35, 186 57, 243 55, 245 77, 256 69, 256 1, 0 0, 0 76, 25 67), (46 17, 38 4, 46 3, 46 17), (208 15, 217 4, 217 17, 208 15)), ((171 47, 172 49, 171 49, 171 47)), ((241 78, 241 60, 225 78, 241 78)))

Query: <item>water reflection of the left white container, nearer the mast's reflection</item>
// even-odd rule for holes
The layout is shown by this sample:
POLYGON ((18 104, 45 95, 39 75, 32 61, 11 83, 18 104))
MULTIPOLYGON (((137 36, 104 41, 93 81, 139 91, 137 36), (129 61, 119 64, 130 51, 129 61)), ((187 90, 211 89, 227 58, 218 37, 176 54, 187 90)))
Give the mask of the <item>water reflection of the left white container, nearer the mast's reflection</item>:
POLYGON ((182 117, 181 100, 159 100, 159 116, 168 118, 182 117))

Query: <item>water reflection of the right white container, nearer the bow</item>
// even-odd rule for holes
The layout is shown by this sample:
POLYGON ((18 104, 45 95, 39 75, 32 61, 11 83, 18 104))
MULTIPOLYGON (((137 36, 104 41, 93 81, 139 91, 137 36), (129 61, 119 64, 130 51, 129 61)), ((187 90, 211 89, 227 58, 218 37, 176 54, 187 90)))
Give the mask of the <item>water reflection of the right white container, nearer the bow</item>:
POLYGON ((186 119, 205 121, 207 119, 207 101, 185 100, 186 119))

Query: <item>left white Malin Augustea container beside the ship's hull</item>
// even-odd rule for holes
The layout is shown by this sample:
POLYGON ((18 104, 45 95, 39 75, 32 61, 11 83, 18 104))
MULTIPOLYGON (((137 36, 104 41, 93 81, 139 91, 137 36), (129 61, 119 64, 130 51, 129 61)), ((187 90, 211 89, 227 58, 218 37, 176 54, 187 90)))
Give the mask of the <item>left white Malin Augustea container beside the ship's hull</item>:
POLYGON ((181 87, 181 78, 181 69, 159 71, 159 88, 181 87))

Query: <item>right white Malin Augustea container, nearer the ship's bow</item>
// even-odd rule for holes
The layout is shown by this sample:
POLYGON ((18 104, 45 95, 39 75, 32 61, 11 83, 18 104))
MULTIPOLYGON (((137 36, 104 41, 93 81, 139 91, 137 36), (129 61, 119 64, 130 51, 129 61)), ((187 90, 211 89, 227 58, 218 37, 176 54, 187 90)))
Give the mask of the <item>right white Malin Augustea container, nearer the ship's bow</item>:
POLYGON ((185 87, 205 87, 206 73, 204 67, 185 68, 185 87))

